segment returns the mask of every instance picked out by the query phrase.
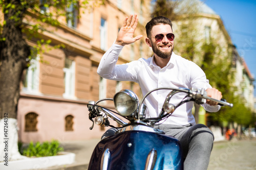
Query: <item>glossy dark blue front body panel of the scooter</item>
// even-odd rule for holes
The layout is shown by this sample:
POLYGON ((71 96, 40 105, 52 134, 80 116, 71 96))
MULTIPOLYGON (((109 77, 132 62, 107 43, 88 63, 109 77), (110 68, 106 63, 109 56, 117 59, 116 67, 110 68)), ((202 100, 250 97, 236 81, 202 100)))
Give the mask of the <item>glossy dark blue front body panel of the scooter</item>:
POLYGON ((174 137, 125 131, 96 145, 88 167, 92 169, 183 169, 181 147, 174 137))

